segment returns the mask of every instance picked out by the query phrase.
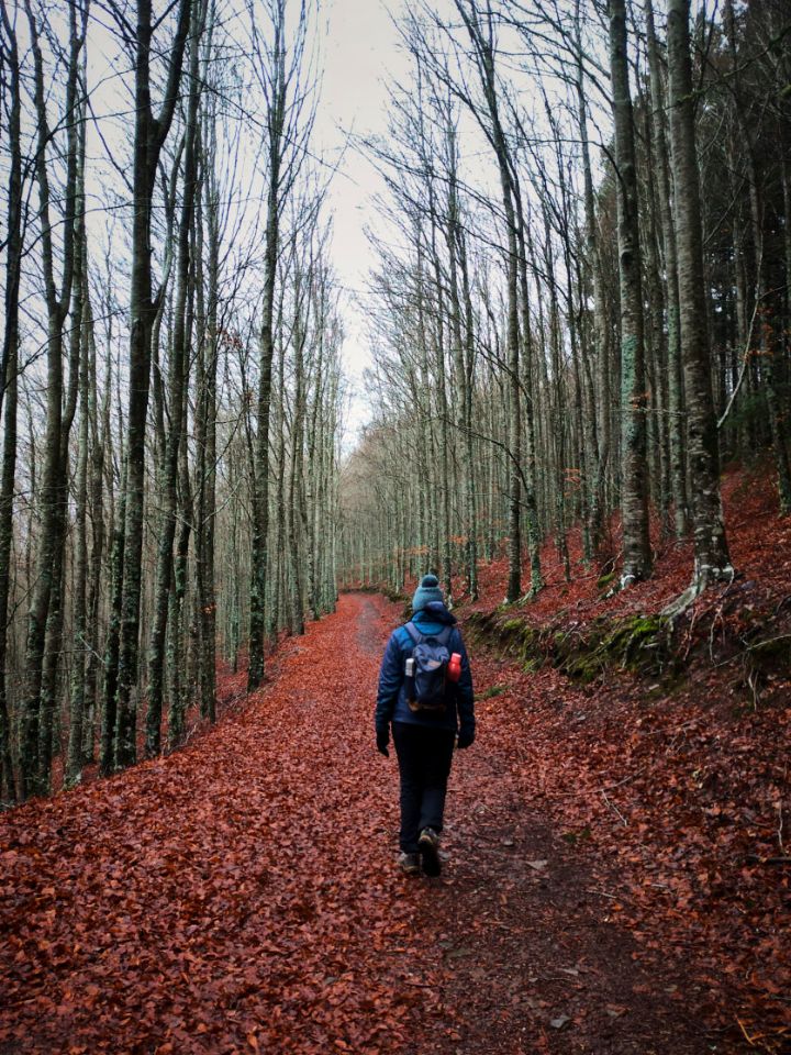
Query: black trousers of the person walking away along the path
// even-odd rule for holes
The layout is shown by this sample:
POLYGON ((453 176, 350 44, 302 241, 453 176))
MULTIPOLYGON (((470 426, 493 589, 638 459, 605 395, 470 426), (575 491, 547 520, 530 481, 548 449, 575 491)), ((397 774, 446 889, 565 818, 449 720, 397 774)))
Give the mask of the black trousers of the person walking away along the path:
POLYGON ((455 738, 447 729, 393 722, 401 775, 401 849, 406 854, 416 853, 424 828, 442 831, 455 738))

